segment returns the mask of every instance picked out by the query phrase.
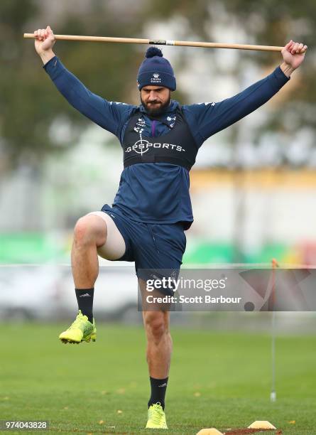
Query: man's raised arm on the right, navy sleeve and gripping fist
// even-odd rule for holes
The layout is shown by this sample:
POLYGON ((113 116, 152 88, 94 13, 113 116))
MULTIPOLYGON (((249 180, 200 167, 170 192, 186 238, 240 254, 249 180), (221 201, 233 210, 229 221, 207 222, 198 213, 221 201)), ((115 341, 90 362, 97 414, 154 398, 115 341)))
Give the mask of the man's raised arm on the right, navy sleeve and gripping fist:
POLYGON ((283 63, 267 77, 221 102, 186 106, 192 115, 190 118, 195 119, 195 131, 198 131, 200 136, 196 138, 197 142, 202 144, 209 136, 246 117, 270 100, 290 80, 290 75, 303 62, 306 50, 307 45, 290 41, 281 52, 283 63))

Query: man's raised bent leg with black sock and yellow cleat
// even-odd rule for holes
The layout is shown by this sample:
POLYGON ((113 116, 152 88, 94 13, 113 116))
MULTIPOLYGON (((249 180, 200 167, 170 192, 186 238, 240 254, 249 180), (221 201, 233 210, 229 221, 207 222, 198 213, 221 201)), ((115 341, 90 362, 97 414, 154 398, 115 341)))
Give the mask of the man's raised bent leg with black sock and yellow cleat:
POLYGON ((124 238, 107 213, 92 212, 77 221, 71 259, 79 312, 70 328, 60 334, 63 343, 95 340, 92 308, 99 273, 98 254, 106 259, 119 259, 125 249, 124 238))

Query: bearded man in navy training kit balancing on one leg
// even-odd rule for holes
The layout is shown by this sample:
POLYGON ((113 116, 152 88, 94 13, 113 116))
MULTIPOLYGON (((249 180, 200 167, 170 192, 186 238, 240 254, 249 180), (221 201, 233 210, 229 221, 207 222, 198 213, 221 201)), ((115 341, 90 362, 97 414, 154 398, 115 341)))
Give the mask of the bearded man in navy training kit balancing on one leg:
MULTIPOLYGON (((148 48, 137 77, 141 104, 134 106, 108 102, 89 92, 53 53, 55 38, 49 26, 34 35, 36 51, 58 90, 82 114, 115 134, 124 154, 112 207, 106 204, 75 225, 71 258, 79 313, 59 338, 80 343, 96 338, 92 304, 97 254, 134 261, 142 290, 148 276, 165 276, 164 269, 177 276, 185 252, 184 231, 193 221, 189 171, 198 149, 209 136, 273 97, 303 62, 307 46, 290 41, 282 50, 283 63, 234 97, 182 107, 170 100, 176 87, 173 68, 158 48, 148 48)), ((146 428, 168 429, 164 408, 172 351, 169 313, 143 311, 143 322, 151 382, 146 428)))

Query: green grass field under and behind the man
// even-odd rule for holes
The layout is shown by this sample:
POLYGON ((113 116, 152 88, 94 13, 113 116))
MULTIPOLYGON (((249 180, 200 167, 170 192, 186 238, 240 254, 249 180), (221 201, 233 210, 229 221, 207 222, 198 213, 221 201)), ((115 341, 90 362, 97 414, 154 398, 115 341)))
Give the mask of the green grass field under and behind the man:
MULTIPOLYGON (((143 429, 149 391, 143 329, 99 325, 96 343, 63 345, 57 337, 65 326, 1 325, 0 419, 45 419, 50 431, 63 434, 153 433, 143 429)), ((283 434, 316 434, 316 336, 277 338, 274 404, 268 335, 174 328, 173 343, 169 434, 254 420, 269 420, 283 434)))

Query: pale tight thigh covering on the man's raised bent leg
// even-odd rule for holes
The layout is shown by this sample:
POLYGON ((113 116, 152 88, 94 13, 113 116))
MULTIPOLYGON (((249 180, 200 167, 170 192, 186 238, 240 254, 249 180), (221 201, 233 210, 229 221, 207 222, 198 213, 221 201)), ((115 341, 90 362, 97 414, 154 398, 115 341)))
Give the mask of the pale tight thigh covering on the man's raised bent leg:
POLYGON ((97 248, 99 256, 108 260, 121 258, 125 254, 126 245, 123 236, 114 223, 114 220, 107 213, 102 211, 95 211, 88 213, 88 215, 99 216, 107 224, 107 240, 104 245, 97 248))

